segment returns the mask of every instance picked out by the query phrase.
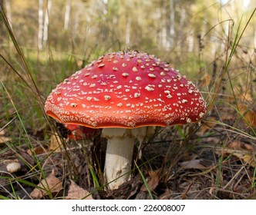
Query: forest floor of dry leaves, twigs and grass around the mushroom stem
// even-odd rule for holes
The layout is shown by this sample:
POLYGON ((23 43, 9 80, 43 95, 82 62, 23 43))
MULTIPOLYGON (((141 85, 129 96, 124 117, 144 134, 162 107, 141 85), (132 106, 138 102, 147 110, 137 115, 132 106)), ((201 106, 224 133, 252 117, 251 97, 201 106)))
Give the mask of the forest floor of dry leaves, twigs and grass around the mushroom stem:
MULTIPOLYGON (((254 128, 255 115, 251 110, 246 117, 254 128)), ((29 147, 17 129, 12 130, 12 138, 8 137, 10 131, 3 130, 0 197, 255 199, 256 139, 248 121, 240 119, 237 121, 237 111, 222 105, 218 111, 211 111, 200 126, 157 129, 143 144, 140 159, 135 148, 131 179, 112 191, 103 185, 106 140, 100 132, 82 141, 56 133, 45 141, 45 124, 36 132, 27 131, 32 143, 29 147), (18 140, 19 146, 14 144, 18 140)))

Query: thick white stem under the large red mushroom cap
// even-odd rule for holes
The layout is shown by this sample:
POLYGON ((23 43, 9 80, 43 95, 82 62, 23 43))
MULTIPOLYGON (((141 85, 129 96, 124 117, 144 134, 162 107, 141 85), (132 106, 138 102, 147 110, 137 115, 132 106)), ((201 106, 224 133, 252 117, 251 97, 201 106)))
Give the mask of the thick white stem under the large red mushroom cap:
POLYGON ((105 183, 109 183, 109 190, 117 189, 130 180, 135 140, 146 134, 147 127, 103 129, 102 137, 107 139, 104 179, 105 183))

